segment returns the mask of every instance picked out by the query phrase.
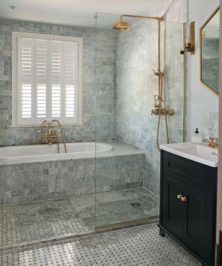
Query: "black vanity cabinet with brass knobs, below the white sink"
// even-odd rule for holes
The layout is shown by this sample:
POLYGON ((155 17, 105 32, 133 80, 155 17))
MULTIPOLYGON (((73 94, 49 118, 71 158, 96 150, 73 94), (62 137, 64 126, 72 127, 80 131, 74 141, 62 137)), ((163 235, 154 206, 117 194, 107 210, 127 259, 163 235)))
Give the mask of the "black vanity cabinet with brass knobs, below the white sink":
POLYGON ((161 150, 160 234, 214 265, 217 168, 161 150))

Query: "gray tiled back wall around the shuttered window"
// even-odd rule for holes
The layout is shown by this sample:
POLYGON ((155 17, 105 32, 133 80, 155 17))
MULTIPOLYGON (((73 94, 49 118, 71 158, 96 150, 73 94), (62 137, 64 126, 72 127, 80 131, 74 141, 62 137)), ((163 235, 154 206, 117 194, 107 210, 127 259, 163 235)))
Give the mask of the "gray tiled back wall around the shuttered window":
POLYGON ((114 139, 114 33, 112 30, 74 28, 51 24, 0 21, 0 145, 40 143, 39 128, 11 128, 12 119, 12 31, 83 37, 83 125, 64 127, 67 142, 95 139, 95 49, 97 90, 97 140, 114 139))

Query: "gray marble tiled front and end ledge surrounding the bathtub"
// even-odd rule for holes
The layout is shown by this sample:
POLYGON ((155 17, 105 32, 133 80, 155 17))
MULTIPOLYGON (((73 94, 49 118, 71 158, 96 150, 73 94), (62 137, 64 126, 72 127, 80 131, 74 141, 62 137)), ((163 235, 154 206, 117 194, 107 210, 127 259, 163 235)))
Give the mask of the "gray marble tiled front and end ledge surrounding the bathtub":
MULTIPOLYGON (((143 152, 121 143, 112 145, 112 152, 96 159, 96 192, 142 187, 143 152)), ((94 192, 94 158, 0 166, 0 204, 94 192)))

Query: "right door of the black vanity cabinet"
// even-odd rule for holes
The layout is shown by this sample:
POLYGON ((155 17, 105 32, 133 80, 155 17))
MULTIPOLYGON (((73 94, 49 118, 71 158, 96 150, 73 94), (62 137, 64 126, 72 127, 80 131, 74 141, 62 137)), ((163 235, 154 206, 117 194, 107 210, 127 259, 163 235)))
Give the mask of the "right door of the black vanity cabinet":
POLYGON ((198 193, 187 187, 185 202, 185 220, 182 230, 182 242, 189 247, 208 265, 212 262, 212 232, 207 233, 207 227, 212 230, 212 201, 207 193, 198 193), (210 203, 210 204, 209 204, 210 203), (209 208, 210 207, 210 208, 209 208))

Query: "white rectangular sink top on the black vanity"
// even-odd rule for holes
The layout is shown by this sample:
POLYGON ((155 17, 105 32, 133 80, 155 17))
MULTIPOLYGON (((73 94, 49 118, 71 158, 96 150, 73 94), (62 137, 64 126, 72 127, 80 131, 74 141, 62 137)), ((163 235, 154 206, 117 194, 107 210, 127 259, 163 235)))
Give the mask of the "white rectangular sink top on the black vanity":
POLYGON ((160 145, 160 149, 206 166, 218 167, 218 150, 208 147, 206 143, 165 144, 160 145))

